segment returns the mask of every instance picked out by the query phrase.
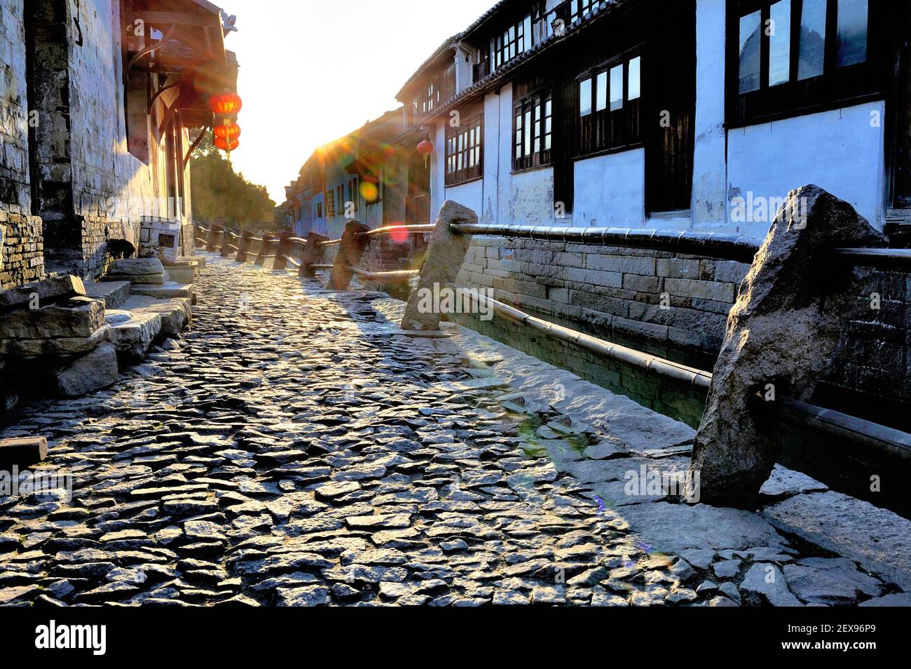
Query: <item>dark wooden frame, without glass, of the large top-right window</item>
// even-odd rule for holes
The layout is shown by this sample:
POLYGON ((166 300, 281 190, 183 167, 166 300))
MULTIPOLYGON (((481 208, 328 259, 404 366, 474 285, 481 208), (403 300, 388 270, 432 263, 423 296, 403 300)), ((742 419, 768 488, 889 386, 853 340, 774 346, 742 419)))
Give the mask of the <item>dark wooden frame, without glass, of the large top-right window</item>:
POLYGON ((866 59, 862 63, 838 66, 838 0, 826 0, 823 74, 798 79, 801 17, 804 0, 791 0, 790 63, 788 80, 769 85, 770 38, 766 26, 771 7, 778 0, 728 0, 726 126, 738 128, 778 118, 802 116, 826 109, 859 104, 882 98, 888 77, 889 53, 885 20, 888 6, 882 0, 869 0, 867 14, 866 59), (740 92, 740 20, 761 12, 759 89, 740 92))

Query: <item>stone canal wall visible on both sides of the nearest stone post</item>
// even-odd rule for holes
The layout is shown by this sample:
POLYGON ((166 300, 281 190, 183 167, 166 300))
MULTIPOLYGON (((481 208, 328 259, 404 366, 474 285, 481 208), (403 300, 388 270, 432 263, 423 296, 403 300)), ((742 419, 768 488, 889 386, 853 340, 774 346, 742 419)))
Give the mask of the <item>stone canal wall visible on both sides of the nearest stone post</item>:
MULTIPOLYGON (((748 270, 680 253, 475 237, 458 283, 493 288, 507 304, 711 371, 748 270)), ((856 299, 868 306, 866 315, 845 325, 817 401, 911 430, 911 279, 856 271, 864 276, 856 299)), ((660 410, 658 397, 617 387, 660 410)))

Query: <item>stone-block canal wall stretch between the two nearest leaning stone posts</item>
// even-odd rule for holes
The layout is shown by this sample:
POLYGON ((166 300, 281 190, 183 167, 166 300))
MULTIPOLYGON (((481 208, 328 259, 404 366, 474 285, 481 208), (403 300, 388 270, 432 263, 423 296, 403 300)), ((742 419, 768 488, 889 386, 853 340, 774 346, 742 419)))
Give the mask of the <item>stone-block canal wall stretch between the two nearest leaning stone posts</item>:
POLYGON ((714 354, 748 269, 681 253, 475 237, 459 283, 595 333, 714 354))

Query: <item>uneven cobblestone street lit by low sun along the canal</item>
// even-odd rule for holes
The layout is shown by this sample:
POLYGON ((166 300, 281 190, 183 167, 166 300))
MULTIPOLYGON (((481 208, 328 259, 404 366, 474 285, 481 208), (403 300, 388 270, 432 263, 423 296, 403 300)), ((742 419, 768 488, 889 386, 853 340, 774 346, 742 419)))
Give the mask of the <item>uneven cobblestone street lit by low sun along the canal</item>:
MULTIPOLYGON (((400 334, 382 293, 213 256, 198 290, 183 339, 3 433, 45 434, 36 471, 66 468, 74 490, 0 501, 0 603, 800 603, 763 585, 780 568, 804 602, 885 592, 732 509, 701 522, 722 537, 711 513, 744 514, 730 543, 656 550, 593 489, 644 459, 510 395, 485 376, 496 355, 400 334), (847 585, 821 591, 835 572, 847 585)), ((640 519, 659 507, 687 510, 640 519)))

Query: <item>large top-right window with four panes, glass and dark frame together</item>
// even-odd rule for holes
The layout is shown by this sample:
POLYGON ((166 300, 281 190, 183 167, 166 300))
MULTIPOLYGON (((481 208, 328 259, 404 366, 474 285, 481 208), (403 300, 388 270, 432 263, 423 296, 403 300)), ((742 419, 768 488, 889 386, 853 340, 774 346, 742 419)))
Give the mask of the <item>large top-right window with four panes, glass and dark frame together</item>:
POLYGON ((883 90, 883 68, 871 53, 883 14, 878 0, 728 4, 730 122, 834 108, 883 90))

